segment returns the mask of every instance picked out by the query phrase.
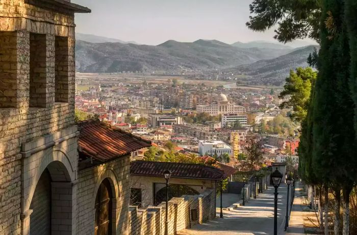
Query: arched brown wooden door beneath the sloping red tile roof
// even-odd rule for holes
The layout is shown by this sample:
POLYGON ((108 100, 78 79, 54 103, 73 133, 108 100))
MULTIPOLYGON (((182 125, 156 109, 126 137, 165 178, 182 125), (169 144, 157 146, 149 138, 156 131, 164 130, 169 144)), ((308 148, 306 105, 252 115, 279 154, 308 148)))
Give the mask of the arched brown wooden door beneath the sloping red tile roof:
POLYGON ((108 179, 101 182, 95 197, 94 235, 112 234, 112 188, 108 179))

